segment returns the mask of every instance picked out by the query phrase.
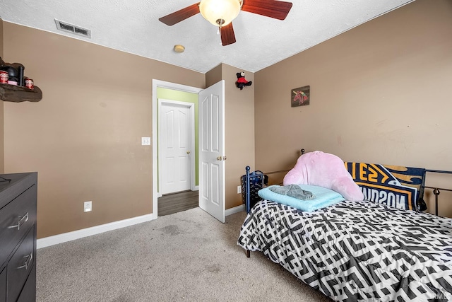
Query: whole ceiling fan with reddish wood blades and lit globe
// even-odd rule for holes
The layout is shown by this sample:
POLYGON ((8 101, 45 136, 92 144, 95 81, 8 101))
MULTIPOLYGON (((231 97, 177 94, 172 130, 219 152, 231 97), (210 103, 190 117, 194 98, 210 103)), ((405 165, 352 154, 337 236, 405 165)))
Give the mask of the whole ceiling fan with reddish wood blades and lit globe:
POLYGON ((218 26, 222 45, 225 46, 235 43, 232 20, 239 15, 240 11, 284 20, 290 8, 292 8, 291 2, 277 0, 201 0, 158 20, 171 26, 201 13, 207 21, 218 26))

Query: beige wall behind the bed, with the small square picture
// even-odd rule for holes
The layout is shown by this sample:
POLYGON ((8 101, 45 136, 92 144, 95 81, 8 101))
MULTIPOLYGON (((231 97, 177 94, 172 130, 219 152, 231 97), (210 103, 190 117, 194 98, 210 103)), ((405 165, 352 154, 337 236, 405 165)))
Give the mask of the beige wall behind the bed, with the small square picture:
POLYGON ((452 170, 451 37, 452 1, 417 0, 256 72, 256 166, 291 168, 304 148, 452 170))

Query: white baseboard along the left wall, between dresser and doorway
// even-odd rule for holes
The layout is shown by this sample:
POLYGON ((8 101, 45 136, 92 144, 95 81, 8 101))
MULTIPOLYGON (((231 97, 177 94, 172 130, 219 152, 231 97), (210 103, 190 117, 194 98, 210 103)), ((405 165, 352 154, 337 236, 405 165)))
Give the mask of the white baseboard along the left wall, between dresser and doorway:
POLYGON ((153 214, 147 214, 143 216, 137 216, 130 219, 124 219, 120 221, 114 221, 111 223, 101 224, 100 226, 93 226, 91 228, 83 228, 82 230, 73 231, 69 233, 62 233, 55 236, 49 236, 45 238, 40 238, 37 240, 36 248, 45 248, 50 245, 56 245, 59 243, 64 243, 71 240, 80 239, 83 237, 88 237, 107 231, 113 231, 118 228, 125 228, 126 226, 133 226, 134 224, 143 223, 146 221, 151 221, 154 219, 153 214))

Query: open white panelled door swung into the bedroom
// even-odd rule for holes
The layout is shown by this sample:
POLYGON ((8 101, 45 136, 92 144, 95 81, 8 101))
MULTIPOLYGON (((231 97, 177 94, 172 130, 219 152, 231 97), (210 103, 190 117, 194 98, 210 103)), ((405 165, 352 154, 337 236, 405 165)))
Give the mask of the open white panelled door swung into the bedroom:
POLYGON ((199 93, 199 207, 225 222, 225 81, 199 93))

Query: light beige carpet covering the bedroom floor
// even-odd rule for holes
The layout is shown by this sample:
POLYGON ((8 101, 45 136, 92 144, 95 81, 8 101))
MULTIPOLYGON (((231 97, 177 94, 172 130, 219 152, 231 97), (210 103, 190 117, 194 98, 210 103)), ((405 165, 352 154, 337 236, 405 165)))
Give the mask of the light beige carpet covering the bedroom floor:
POLYGON ((37 301, 331 301, 196 208, 37 250, 37 301))

